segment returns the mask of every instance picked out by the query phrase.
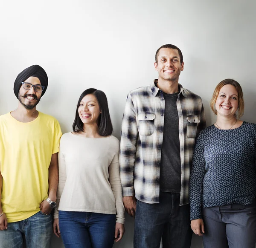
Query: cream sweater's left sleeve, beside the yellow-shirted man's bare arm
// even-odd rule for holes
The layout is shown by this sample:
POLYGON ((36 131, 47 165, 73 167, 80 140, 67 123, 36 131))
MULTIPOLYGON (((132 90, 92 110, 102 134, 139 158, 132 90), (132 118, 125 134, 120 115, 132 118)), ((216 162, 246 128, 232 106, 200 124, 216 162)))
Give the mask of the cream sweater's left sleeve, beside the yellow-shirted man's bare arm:
POLYGON ((62 153, 62 146, 63 146, 63 142, 60 142, 60 150, 58 153, 59 182, 58 182, 57 200, 56 200, 57 206, 55 207, 54 214, 53 214, 54 219, 58 219, 58 206, 61 199, 61 194, 65 186, 65 182, 67 179, 66 164, 65 164, 64 155, 62 153))

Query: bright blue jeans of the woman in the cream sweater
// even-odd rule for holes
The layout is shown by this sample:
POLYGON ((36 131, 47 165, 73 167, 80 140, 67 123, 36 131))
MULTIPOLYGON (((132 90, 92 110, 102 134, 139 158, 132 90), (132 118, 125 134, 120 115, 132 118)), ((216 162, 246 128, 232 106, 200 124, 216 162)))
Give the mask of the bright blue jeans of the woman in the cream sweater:
POLYGON ((59 226, 65 248, 112 248, 116 215, 59 211, 59 226))

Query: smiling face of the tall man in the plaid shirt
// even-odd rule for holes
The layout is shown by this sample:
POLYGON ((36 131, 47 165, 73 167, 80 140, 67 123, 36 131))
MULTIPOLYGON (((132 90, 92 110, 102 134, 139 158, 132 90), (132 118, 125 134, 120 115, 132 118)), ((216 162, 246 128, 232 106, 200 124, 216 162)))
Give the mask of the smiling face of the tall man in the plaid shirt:
POLYGON ((184 62, 180 63, 178 50, 161 48, 154 66, 158 72, 159 80, 178 82, 180 71, 183 71, 184 62))

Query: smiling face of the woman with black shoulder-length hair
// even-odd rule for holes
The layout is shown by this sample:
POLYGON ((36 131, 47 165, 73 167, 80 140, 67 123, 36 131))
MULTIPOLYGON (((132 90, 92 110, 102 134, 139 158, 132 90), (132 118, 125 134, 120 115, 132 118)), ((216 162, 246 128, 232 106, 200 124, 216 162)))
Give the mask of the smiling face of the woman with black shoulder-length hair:
POLYGON ((84 96, 79 104, 78 113, 83 124, 97 124, 101 113, 97 98, 92 94, 84 96))

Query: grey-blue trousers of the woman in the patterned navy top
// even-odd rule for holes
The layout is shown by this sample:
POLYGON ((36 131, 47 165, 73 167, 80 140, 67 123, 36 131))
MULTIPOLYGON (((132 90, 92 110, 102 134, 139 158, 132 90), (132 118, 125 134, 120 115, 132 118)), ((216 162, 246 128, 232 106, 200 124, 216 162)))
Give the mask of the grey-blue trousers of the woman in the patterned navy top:
POLYGON ((255 248, 256 204, 203 208, 204 248, 255 248))

